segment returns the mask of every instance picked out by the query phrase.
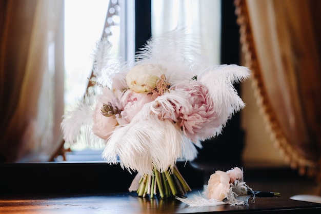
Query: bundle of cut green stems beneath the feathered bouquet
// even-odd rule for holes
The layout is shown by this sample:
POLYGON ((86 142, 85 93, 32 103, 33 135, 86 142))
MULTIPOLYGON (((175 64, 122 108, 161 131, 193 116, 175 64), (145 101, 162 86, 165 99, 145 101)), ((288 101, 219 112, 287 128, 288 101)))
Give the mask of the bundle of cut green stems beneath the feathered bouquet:
POLYGON ((139 197, 150 197, 151 199, 159 195, 160 198, 170 198, 172 196, 184 196, 191 188, 179 173, 176 166, 164 172, 153 169, 150 175, 144 174, 139 180, 137 194, 139 197))

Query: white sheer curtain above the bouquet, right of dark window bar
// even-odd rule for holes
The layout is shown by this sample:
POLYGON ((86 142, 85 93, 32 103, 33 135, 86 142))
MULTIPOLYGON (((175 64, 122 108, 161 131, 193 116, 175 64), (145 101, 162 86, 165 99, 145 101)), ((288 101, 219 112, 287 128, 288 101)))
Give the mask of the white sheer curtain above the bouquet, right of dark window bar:
POLYGON ((152 0, 152 36, 186 27, 200 38, 212 64, 220 57, 220 0, 152 0))

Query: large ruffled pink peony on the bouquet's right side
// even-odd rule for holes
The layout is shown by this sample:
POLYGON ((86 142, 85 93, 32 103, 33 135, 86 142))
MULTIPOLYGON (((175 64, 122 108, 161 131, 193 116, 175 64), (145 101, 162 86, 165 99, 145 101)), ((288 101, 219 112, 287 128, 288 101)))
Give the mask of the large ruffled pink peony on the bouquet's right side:
POLYGON ((188 93, 188 105, 175 106, 177 122, 185 135, 194 143, 198 139, 212 137, 213 130, 220 126, 216 118, 215 105, 207 87, 197 81, 190 81, 175 87, 175 91, 188 93))

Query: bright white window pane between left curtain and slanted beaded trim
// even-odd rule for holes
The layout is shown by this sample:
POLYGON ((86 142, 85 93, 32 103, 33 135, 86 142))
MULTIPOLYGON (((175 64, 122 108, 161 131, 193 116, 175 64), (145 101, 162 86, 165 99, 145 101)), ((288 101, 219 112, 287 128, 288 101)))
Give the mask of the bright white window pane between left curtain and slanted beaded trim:
POLYGON ((65 107, 86 91, 95 43, 101 38, 108 9, 105 0, 65 0, 65 107))

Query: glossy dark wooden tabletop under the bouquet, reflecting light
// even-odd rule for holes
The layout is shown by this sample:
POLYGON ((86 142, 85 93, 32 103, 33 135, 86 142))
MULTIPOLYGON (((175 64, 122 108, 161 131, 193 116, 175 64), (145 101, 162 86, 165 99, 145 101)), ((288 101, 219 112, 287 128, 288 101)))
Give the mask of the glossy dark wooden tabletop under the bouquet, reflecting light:
MULTIPOLYGON (((192 197, 202 189, 187 194, 192 197)), ((255 198, 248 206, 190 207, 175 199, 139 198, 128 192, 99 194, 7 194, 0 213, 321 213, 321 204, 287 198, 255 198)))

